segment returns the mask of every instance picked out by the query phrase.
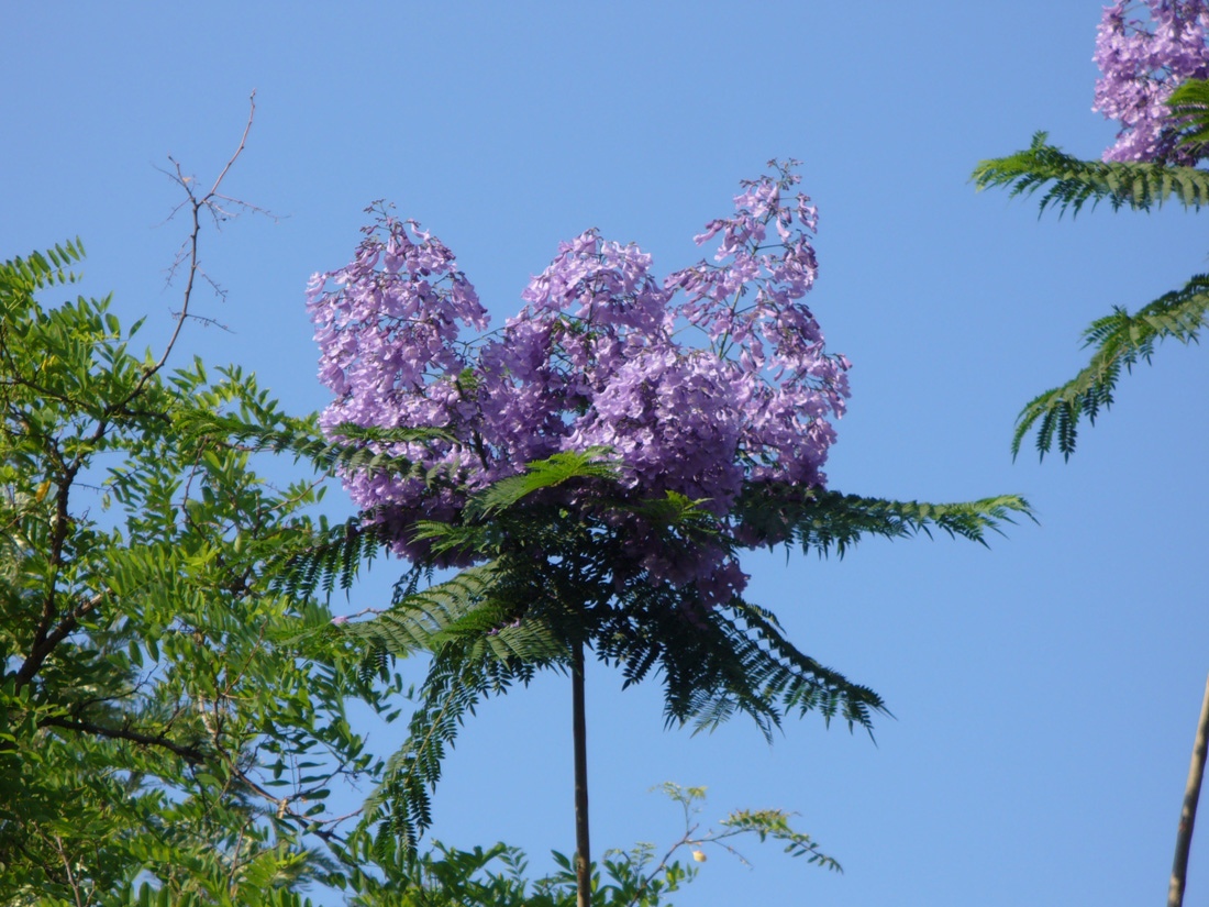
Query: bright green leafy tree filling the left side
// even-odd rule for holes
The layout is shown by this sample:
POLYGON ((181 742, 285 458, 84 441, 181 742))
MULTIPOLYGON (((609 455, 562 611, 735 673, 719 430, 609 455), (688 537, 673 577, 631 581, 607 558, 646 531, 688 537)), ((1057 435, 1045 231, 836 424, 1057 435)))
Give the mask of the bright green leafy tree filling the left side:
POLYGON ((251 376, 168 371, 109 300, 44 308, 80 256, 0 264, 0 900, 301 905, 339 871, 329 791, 376 767, 360 653, 278 588, 319 480, 186 431, 294 431, 251 376))

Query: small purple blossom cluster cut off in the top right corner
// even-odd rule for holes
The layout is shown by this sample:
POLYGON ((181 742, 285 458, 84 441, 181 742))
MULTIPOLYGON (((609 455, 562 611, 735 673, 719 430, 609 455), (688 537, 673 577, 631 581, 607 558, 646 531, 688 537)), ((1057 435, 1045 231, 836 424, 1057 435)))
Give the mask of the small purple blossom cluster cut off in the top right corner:
POLYGON ((1093 59, 1098 110, 1121 122, 1105 161, 1194 163, 1176 146, 1167 99, 1188 79, 1209 77, 1209 5, 1205 0, 1145 0, 1150 22, 1127 18, 1134 4, 1105 7, 1093 59))

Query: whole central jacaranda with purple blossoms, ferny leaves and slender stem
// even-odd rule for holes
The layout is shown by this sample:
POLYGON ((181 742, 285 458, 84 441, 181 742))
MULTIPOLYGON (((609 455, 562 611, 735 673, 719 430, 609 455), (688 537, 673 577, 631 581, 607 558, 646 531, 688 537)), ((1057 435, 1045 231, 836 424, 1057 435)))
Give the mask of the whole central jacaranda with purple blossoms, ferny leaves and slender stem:
POLYGON ((452 252, 382 206, 353 261, 313 279, 335 394, 320 423, 382 462, 346 472, 363 513, 296 576, 387 545, 415 571, 391 611, 341 631, 383 654, 433 654, 411 736, 371 799, 383 845, 399 836, 406 850, 429 824, 444 747, 479 698, 559 668, 572 678, 586 903, 586 651, 627 684, 661 676, 671 723, 744 711, 767 730, 818 710, 869 727, 881 699, 744 600, 740 553, 843 551, 930 526, 980 541, 1026 512, 1017 497, 930 506, 826 489, 849 363, 803 301, 816 210, 793 192, 793 162, 771 166, 696 237, 718 241, 712 261, 660 279, 640 248, 589 231, 491 333, 452 252), (461 572, 421 590, 438 567, 461 572))

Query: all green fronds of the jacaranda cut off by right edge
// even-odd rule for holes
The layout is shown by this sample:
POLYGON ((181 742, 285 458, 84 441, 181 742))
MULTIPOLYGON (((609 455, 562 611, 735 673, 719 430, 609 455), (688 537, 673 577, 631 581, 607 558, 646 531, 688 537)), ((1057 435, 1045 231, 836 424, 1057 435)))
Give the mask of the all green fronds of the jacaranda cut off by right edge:
MULTIPOLYGON (((1191 80, 1170 97, 1174 120, 1182 127, 1181 143, 1201 149, 1209 143, 1209 82, 1191 80)), ((1094 208, 1107 201, 1113 210, 1150 210, 1174 198, 1185 208, 1199 209, 1209 200, 1209 172, 1196 167, 1157 163, 1080 161, 1047 144, 1046 133, 1032 137, 1032 145, 1008 157, 983 161, 973 172, 979 190, 1007 186, 1010 193, 1030 195, 1046 187, 1046 208, 1077 214, 1091 201, 1094 208)), ((1092 358, 1070 381, 1039 394, 1016 420, 1012 456, 1020 451, 1025 435, 1036 429, 1036 449, 1045 458, 1057 441, 1063 457, 1075 452, 1081 418, 1095 423, 1097 416, 1113 401, 1122 369, 1132 371, 1139 362, 1151 362, 1156 342, 1174 337, 1182 343, 1198 340, 1209 305, 1209 277, 1193 276, 1181 289, 1159 296, 1134 314, 1115 306, 1083 331, 1083 346, 1092 358)))

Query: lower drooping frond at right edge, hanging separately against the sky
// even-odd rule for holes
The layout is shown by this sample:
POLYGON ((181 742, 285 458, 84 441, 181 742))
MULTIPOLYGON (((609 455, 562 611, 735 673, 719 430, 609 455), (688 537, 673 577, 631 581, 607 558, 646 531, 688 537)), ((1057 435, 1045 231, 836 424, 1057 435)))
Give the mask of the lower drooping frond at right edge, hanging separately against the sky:
POLYGON ((1084 346, 1095 347, 1091 362, 1062 387, 1046 391, 1020 411, 1012 437, 1012 456, 1036 428, 1036 446, 1045 457, 1058 443, 1064 458, 1075 452, 1078 421, 1086 416, 1094 424, 1100 410, 1112 405, 1112 392, 1122 366, 1149 363, 1155 343, 1174 337, 1182 343, 1197 341, 1209 317, 1209 275, 1197 275, 1181 289, 1159 296, 1135 314, 1115 308, 1083 333, 1084 346))

